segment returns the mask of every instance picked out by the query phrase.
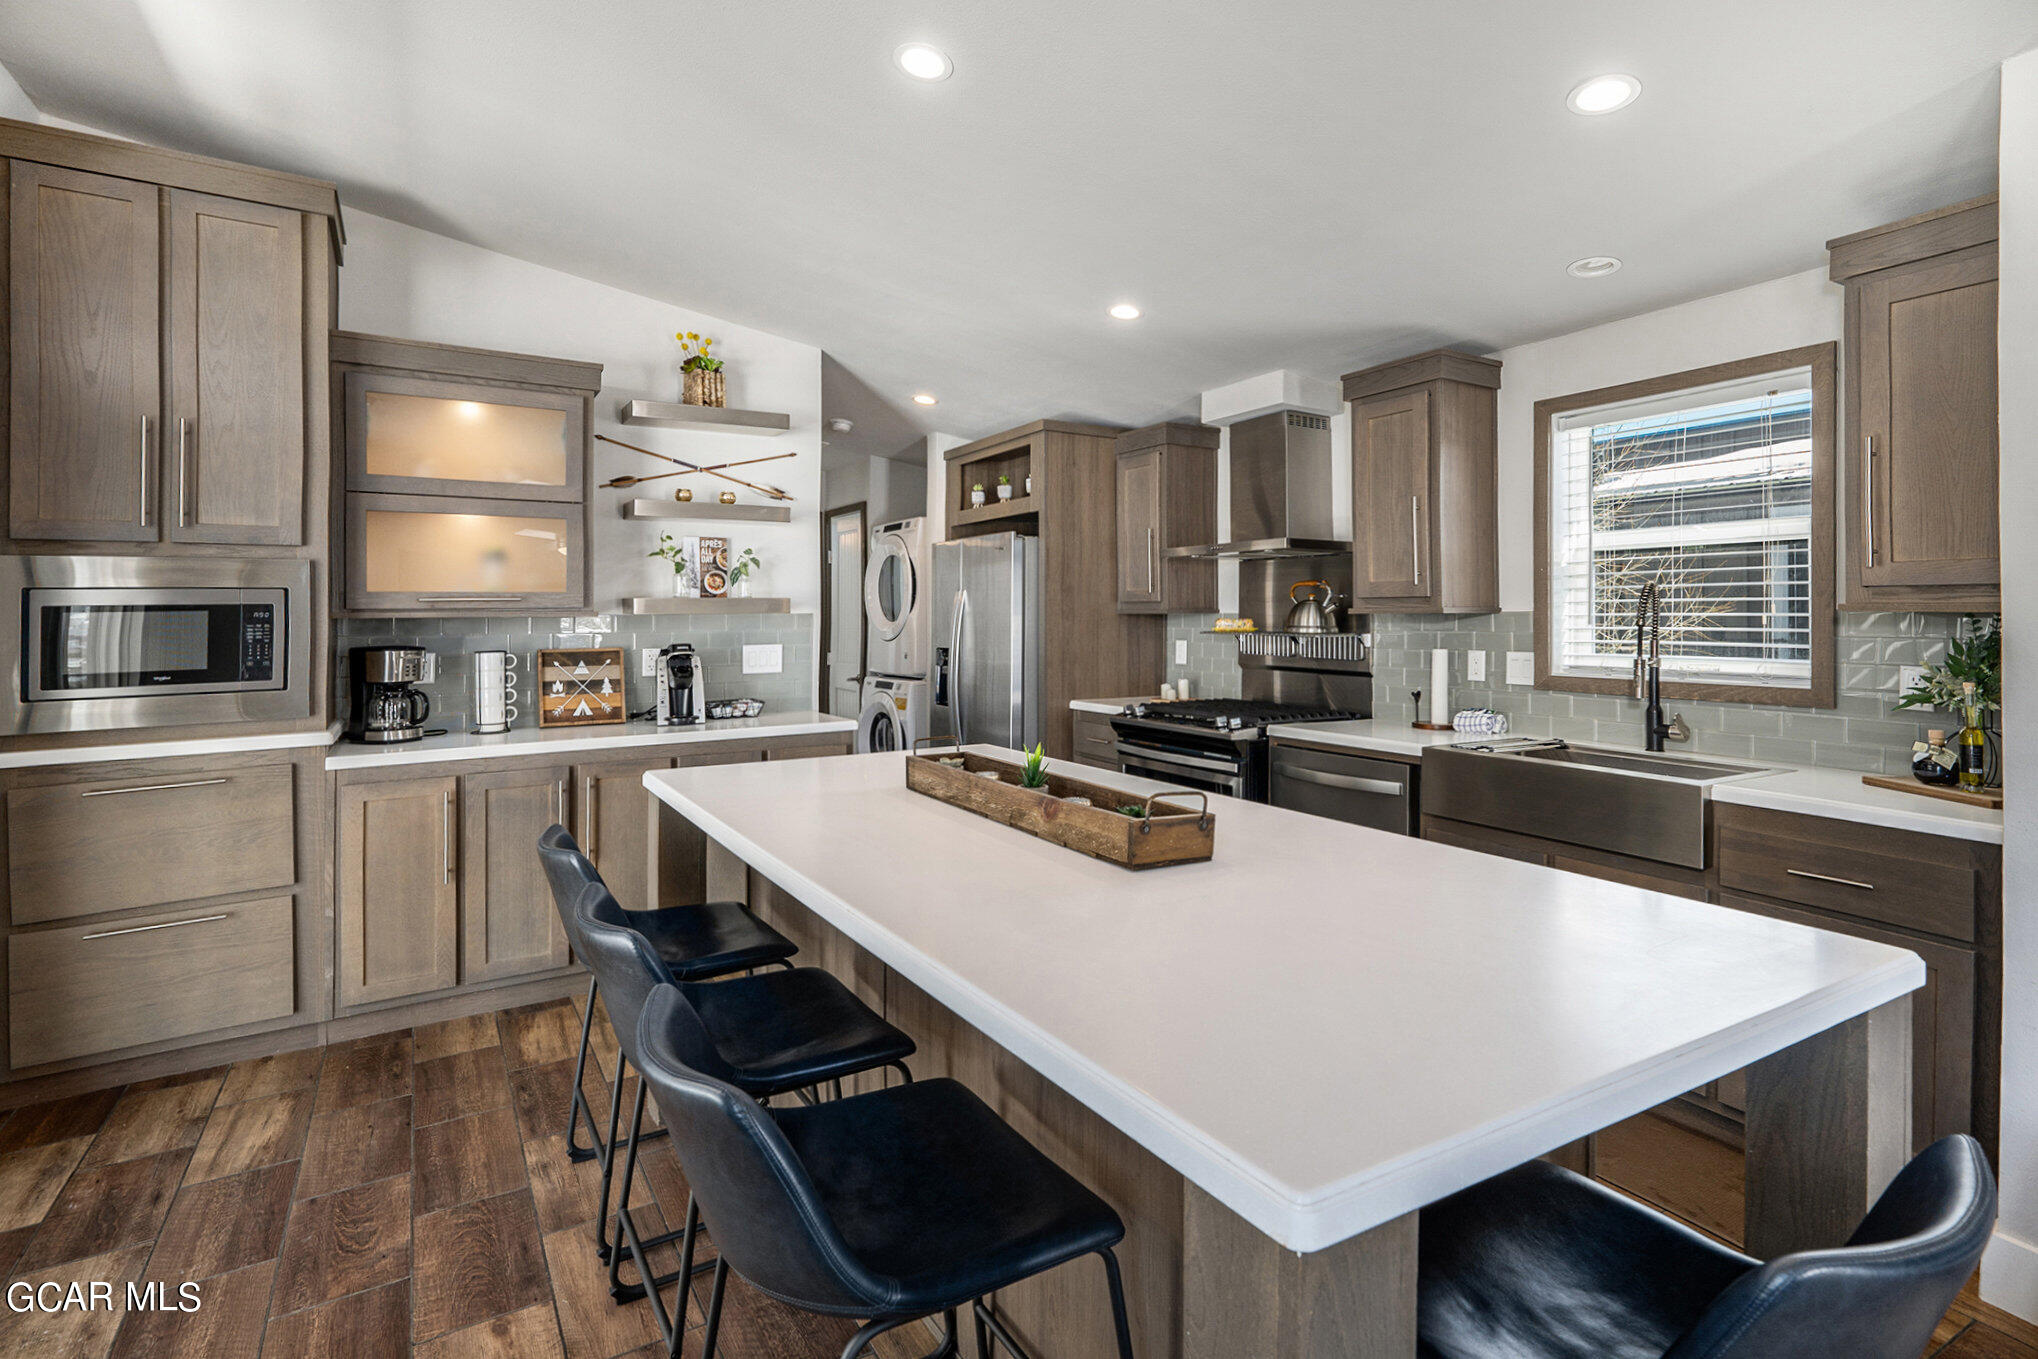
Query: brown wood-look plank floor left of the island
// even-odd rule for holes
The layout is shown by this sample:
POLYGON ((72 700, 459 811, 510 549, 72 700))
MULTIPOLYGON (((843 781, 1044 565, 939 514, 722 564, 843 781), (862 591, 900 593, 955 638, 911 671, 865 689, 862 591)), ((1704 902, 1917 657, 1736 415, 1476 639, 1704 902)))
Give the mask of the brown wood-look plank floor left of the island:
MULTIPOLYGON (((615 1039, 601 1017, 597 1033, 585 1090, 607 1110, 615 1039)), ((595 1259, 599 1170, 567 1159, 579 1039, 579 1000, 554 1000, 0 1115, 0 1278, 104 1280, 116 1304, 128 1280, 171 1300, 194 1282, 204 1300, 0 1310, 0 1355, 662 1355, 648 1304, 615 1306, 595 1259)), ((648 1231, 685 1214, 664 1141, 634 1202, 648 1231)), ((732 1280, 717 1353, 825 1359, 852 1330, 732 1280)), ((887 1337, 878 1359, 925 1349, 887 1337)))

